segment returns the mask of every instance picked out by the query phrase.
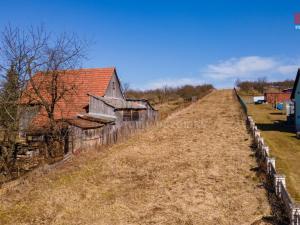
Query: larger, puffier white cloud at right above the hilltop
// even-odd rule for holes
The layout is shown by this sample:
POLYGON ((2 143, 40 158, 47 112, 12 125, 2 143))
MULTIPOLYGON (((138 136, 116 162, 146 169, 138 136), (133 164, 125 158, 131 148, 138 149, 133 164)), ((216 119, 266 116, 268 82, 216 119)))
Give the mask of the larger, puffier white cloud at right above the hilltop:
POLYGON ((208 65, 202 71, 202 75, 219 81, 233 78, 251 79, 259 76, 294 75, 300 62, 289 61, 291 60, 261 56, 230 58, 208 65))

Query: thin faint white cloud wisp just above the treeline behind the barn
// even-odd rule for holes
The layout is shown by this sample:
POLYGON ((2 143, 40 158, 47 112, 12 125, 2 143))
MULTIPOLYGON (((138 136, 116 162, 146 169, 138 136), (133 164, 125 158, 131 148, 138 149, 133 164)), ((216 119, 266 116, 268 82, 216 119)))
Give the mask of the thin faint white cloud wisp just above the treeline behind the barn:
POLYGON ((166 78, 160 79, 153 82, 150 82, 144 89, 156 89, 162 88, 164 86, 168 87, 180 87, 183 85, 199 85, 203 84, 203 80, 196 79, 196 78, 166 78))

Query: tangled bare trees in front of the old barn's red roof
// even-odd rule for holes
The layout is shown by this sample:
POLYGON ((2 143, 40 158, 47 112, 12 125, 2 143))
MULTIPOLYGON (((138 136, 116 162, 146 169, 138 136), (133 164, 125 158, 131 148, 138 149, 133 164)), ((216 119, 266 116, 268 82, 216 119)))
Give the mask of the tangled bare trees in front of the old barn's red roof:
MULTIPOLYGON (((6 142, 12 148, 17 142, 20 127, 20 118, 27 110, 27 105, 38 105, 46 112, 48 118, 48 133, 55 134, 58 123, 55 111, 59 101, 66 95, 76 94, 76 87, 72 82, 65 82, 66 71, 79 68, 85 58, 86 43, 76 35, 63 33, 53 36, 43 26, 21 30, 7 26, 1 33, 0 42, 0 73, 2 77, 2 90, 8 75, 12 72, 17 79, 15 90, 8 90, 0 97, 2 118, 0 127, 5 131, 6 142), (11 101, 7 96, 17 95, 11 101), (22 107, 21 107, 22 105, 22 107), (13 107, 12 107, 13 106, 13 107), (25 107, 24 107, 25 106, 25 107), (11 113, 16 110, 16 113, 11 113), (7 118, 10 125, 7 126, 7 118)), ((51 148, 49 155, 53 155, 51 148)), ((13 158, 15 153, 0 152, 3 158, 13 158), (10 155, 10 156, 8 156, 10 155)), ((6 160, 7 161, 7 160, 6 160)))

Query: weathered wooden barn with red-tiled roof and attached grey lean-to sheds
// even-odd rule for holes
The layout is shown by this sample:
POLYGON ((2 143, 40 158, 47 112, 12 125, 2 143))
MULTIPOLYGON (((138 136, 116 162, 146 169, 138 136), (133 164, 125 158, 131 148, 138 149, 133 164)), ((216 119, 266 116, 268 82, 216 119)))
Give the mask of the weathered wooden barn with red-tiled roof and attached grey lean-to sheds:
MULTIPOLYGON (((124 97, 115 68, 67 71, 61 79, 76 89, 75 95, 66 95, 57 103, 54 112, 64 130, 65 154, 116 143, 158 118, 147 100, 124 97)), ((30 133, 31 140, 33 136, 43 140, 39 134, 45 134, 40 131, 49 123, 45 110, 26 98, 22 104, 26 110, 20 121, 21 135, 28 139, 30 133)))

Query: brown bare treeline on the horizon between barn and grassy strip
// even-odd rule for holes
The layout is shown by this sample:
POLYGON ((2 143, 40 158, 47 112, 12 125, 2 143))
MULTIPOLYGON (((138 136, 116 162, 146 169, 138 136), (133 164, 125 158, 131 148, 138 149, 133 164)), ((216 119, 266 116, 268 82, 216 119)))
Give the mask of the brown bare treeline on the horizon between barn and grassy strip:
POLYGON ((144 98, 148 99, 151 104, 159 104, 167 101, 177 100, 179 98, 191 100, 193 97, 201 98, 208 92, 213 90, 211 84, 204 85, 184 85, 181 87, 168 87, 164 86, 158 89, 151 90, 133 90, 129 89, 125 92, 126 98, 144 98))

